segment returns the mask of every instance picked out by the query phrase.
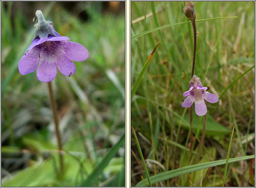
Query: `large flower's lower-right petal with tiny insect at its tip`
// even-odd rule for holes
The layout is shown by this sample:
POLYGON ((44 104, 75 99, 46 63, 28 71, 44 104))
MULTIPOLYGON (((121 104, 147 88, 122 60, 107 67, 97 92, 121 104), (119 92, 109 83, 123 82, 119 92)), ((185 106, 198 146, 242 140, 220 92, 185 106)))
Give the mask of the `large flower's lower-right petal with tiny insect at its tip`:
POLYGON ((58 56, 57 61, 55 61, 55 63, 59 71, 65 76, 72 76, 76 72, 75 64, 66 56, 58 56))

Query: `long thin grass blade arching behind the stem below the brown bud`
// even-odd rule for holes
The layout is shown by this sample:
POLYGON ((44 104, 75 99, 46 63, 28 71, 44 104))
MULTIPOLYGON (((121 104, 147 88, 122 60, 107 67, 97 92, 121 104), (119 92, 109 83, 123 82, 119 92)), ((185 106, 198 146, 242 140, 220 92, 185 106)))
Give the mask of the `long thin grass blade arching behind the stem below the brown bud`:
MULTIPOLYGON (((237 16, 196 20, 196 22, 204 22, 204 21, 211 21, 211 20, 221 20, 221 19, 229 19, 229 18, 237 18, 237 16)), ((157 28, 154 28, 154 29, 150 29, 150 30, 148 30, 148 31, 144 31, 144 32, 139 33, 139 34, 137 34, 137 35, 135 35, 135 36, 132 36, 132 37, 131 37, 131 40, 133 40, 133 39, 135 39, 135 38, 137 38, 137 37, 146 35, 146 34, 148 34, 148 33, 157 31, 157 30, 159 30, 159 29, 163 29, 163 28, 167 28, 167 27, 172 27, 172 26, 177 26, 177 25, 181 25, 181 24, 188 24, 188 23, 190 23, 190 21, 187 21, 187 22, 179 22, 179 23, 175 23, 175 24, 168 24, 168 25, 165 25, 165 26, 160 26, 160 27, 157 27, 157 28)))

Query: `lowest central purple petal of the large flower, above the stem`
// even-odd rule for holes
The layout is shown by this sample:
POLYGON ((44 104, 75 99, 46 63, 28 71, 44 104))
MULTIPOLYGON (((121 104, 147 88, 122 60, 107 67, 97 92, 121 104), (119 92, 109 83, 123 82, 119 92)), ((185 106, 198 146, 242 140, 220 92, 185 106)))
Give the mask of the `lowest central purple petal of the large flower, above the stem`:
POLYGON ((57 74, 56 65, 49 59, 42 58, 36 70, 36 76, 39 81, 47 83, 53 81, 57 74))

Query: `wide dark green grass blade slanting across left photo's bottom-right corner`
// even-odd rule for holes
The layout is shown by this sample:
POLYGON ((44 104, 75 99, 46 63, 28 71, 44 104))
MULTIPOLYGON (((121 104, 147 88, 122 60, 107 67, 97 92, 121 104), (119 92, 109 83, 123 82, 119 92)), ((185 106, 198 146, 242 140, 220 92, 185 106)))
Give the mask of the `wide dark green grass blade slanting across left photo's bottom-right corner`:
POLYGON ((95 181, 98 179, 102 170, 107 166, 108 162, 116 155, 118 149, 123 145, 125 141, 125 133, 121 136, 118 142, 111 147, 105 157, 100 161, 99 164, 94 168, 94 170, 87 176, 85 181, 81 183, 82 187, 92 187, 95 181))

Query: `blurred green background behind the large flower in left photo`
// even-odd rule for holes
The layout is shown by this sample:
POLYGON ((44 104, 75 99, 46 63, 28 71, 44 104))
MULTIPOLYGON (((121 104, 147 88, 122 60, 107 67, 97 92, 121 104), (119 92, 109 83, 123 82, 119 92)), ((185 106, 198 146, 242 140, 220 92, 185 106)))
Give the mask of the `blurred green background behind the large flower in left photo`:
MULTIPOLYGON (((125 2, 1 2, 2 186, 79 186, 125 132, 125 2), (22 76, 35 11, 85 46, 76 73, 53 81, 65 174, 56 177, 57 141, 47 84, 22 76)), ((124 186, 125 146, 94 186, 124 186)))

